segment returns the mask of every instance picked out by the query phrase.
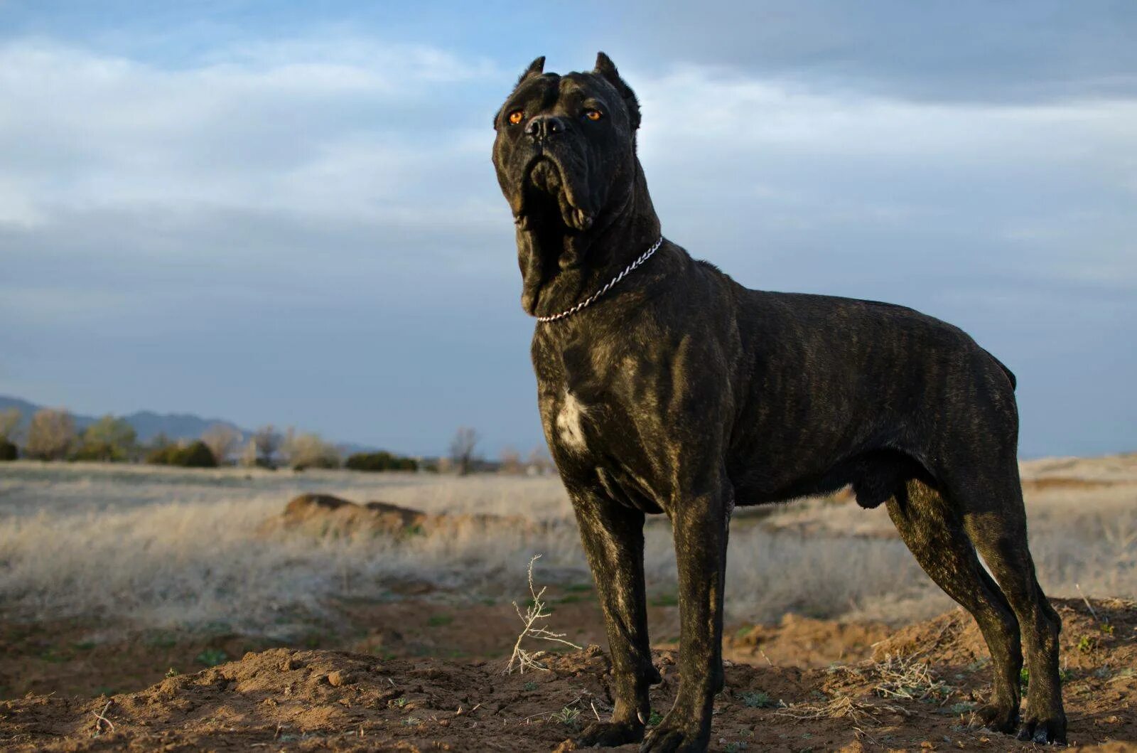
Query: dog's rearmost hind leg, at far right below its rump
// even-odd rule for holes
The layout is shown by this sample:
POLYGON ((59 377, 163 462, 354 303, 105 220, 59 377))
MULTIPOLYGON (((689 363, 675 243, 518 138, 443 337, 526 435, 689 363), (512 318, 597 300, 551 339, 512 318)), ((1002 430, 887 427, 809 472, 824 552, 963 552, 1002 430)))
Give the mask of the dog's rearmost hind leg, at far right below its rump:
POLYGON ((1059 679, 1062 620, 1046 599, 1027 547, 1027 514, 1014 461, 974 477, 963 491, 968 535, 1006 594, 1022 629, 1029 684, 1019 739, 1065 743, 1067 720, 1059 679))

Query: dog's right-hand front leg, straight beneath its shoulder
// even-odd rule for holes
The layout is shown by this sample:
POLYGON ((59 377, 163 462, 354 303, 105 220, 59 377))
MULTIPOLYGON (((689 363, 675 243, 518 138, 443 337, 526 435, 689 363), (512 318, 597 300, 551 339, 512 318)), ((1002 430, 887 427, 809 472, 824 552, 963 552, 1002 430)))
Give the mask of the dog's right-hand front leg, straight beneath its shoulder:
POLYGON ((679 569, 679 692, 671 711, 640 751, 705 751, 711 712, 723 687, 722 593, 732 502, 721 480, 677 498, 669 510, 679 569))

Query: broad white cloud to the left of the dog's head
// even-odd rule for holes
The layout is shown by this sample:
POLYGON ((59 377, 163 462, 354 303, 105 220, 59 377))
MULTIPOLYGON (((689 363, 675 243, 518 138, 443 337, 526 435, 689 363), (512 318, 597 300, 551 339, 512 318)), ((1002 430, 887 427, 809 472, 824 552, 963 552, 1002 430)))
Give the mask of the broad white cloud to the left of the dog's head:
POLYGON ((0 45, 0 223, 194 207, 405 221, 432 192, 460 206, 454 166, 487 118, 443 117, 435 100, 490 74, 351 41, 250 45, 184 69, 0 45))

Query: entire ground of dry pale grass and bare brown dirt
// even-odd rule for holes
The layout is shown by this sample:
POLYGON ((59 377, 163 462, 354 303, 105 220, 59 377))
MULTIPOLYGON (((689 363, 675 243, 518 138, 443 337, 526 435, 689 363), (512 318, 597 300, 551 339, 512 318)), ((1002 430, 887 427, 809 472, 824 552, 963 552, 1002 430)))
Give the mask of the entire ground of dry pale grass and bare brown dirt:
MULTIPOLYGON (((1039 578, 1065 597, 1072 738, 1134 739, 1137 455, 1035 461, 1022 475, 1039 578)), ((666 676, 679 614, 665 518, 646 540, 666 676)), ((605 646, 553 478, 0 465, 0 746, 549 750, 609 706, 596 647, 501 679, 536 554, 548 626, 605 646), (284 514, 308 493, 421 514, 284 514)), ((882 508, 837 495, 738 511, 728 562, 712 750, 1018 750, 968 721, 989 694, 986 648, 882 508), (922 668, 933 703, 881 701, 869 680, 901 661, 893 651, 922 668)), ((653 704, 673 690, 654 688, 653 704)))

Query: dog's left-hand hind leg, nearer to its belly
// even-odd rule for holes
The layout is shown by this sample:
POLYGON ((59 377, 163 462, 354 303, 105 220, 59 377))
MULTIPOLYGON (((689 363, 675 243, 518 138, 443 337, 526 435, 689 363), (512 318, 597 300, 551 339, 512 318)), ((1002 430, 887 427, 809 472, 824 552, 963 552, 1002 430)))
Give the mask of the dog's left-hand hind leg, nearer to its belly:
POLYGON ((995 684, 990 701, 977 715, 990 729, 1013 733, 1019 721, 1022 668, 1019 624, 1003 591, 980 564, 962 515, 918 479, 899 486, 887 505, 889 518, 920 566, 971 613, 987 642, 995 684))

